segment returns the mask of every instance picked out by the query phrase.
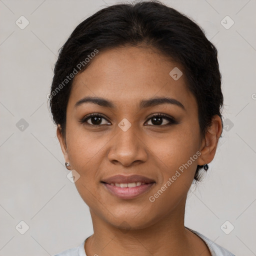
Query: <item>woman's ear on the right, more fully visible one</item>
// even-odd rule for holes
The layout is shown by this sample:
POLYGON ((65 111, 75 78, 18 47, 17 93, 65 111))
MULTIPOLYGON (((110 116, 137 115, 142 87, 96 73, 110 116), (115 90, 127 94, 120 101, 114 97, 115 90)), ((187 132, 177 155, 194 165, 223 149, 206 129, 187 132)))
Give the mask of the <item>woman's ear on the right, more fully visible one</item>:
POLYGON ((205 137, 201 143, 201 155, 198 158, 198 165, 204 165, 212 161, 216 148, 218 139, 222 132, 222 122, 219 115, 214 115, 211 121, 211 126, 207 129, 205 137))

